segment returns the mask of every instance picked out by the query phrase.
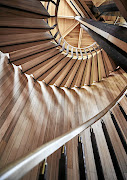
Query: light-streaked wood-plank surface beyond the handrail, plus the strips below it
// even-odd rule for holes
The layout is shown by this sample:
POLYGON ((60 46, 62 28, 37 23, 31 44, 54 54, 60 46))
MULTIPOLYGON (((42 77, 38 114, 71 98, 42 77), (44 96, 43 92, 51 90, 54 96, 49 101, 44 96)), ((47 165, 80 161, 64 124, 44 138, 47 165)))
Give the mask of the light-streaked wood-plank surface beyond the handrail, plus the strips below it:
MULTIPOLYGON (((104 109, 127 85, 127 75, 117 70, 92 86, 58 89, 21 75, 20 69, 0 60, 0 168, 38 146, 78 126, 104 109)), ((127 98, 120 104, 127 113, 127 98)), ((113 109, 117 122, 127 138, 127 122, 118 106, 113 109)), ((103 118, 124 177, 127 178, 127 156, 108 113, 103 118)), ((93 125, 107 180, 116 180, 101 122, 93 125)), ((96 168, 87 129, 81 134, 89 180, 97 180, 96 168)), ((57 180, 60 150, 48 158, 48 179, 57 180)), ((78 180, 77 137, 67 143, 68 180, 78 180)), ((34 180, 39 167, 23 179, 34 180)))

